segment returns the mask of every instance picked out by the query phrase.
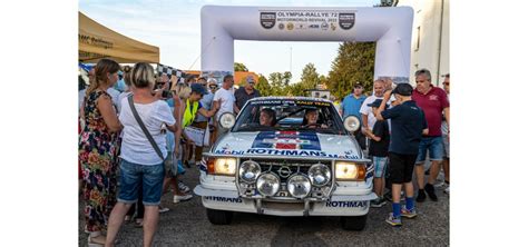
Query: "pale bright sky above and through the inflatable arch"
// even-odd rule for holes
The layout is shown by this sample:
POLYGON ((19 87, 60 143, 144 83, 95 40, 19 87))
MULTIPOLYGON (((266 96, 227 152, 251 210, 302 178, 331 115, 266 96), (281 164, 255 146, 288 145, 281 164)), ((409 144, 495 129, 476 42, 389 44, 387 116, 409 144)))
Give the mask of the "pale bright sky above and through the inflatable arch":
MULTIPOLYGON (((270 7, 372 7, 379 0, 80 0, 79 10, 115 31, 159 47, 160 62, 178 69, 199 70, 199 10, 204 4, 270 7)), ((235 41, 235 61, 251 71, 268 76, 290 70, 301 79, 304 66, 313 62, 327 75, 339 42, 235 41), (258 49, 255 46, 258 45, 258 49)))

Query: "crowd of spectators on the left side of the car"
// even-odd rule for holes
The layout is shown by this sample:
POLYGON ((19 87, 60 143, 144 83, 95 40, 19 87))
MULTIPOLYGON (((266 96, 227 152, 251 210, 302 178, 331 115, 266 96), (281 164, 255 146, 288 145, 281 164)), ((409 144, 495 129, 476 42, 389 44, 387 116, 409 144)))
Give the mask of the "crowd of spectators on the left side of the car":
POLYGON ((255 80, 247 77, 234 91, 233 76, 225 76, 218 89, 214 78, 190 75, 178 82, 149 63, 121 68, 111 59, 99 60, 88 77, 88 88, 79 77, 79 192, 88 245, 113 246, 123 223, 134 218, 144 246, 151 246, 159 213, 169 210, 162 196, 172 190, 175 204, 193 197, 178 178, 202 159, 203 145, 186 128, 214 142, 223 135, 219 116, 260 96, 255 80), (115 88, 120 80, 123 91, 115 88))

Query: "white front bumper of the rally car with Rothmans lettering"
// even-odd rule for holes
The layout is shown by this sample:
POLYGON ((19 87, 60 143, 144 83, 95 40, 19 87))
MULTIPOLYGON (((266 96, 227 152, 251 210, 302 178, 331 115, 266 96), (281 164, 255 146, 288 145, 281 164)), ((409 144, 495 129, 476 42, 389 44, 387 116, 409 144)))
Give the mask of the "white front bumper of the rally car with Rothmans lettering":
POLYGON ((274 216, 362 216, 369 213, 370 200, 378 198, 368 191, 364 195, 334 195, 326 201, 283 202, 242 198, 236 190, 211 189, 202 185, 196 186, 194 192, 202 196, 206 208, 274 216))

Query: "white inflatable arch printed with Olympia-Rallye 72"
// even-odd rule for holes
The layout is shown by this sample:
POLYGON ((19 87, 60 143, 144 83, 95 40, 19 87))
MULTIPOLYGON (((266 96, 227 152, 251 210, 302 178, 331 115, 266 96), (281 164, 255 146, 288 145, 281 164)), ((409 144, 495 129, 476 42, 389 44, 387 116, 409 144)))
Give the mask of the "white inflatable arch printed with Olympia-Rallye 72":
POLYGON ((202 71, 209 77, 233 75, 235 39, 375 41, 374 78, 409 82, 413 19, 410 7, 204 6, 201 19, 202 71))

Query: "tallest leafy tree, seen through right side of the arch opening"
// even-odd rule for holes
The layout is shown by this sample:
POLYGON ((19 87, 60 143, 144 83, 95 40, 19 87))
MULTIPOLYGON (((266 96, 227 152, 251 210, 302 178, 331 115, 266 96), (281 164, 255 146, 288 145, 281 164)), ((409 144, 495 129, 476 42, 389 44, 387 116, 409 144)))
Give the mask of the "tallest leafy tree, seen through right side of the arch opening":
POLYGON ((329 90, 340 99, 353 90, 354 83, 363 85, 365 92, 372 91, 374 57, 374 42, 341 43, 329 72, 329 90))

